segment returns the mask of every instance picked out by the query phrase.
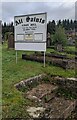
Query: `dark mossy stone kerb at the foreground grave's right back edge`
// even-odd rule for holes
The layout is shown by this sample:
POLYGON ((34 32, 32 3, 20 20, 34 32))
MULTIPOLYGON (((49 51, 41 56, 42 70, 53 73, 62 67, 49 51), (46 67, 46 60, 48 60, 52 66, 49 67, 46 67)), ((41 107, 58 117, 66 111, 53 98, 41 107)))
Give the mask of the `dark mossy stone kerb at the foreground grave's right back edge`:
POLYGON ((62 78, 62 77, 52 77, 52 83, 58 84, 59 87, 70 90, 72 93, 77 95, 77 78, 62 78))

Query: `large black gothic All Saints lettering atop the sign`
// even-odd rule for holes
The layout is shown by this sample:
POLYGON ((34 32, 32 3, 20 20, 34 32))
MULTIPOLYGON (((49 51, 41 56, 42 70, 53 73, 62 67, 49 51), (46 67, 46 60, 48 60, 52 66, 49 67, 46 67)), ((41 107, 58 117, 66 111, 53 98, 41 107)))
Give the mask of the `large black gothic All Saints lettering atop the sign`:
MULTIPOLYGON (((38 17, 29 17, 29 16, 27 16, 25 20, 26 20, 26 22, 37 22, 37 23, 42 23, 42 24, 45 23, 44 19, 38 18, 38 17)), ((16 26, 23 23, 22 18, 19 19, 19 20, 16 20, 15 23, 16 23, 16 26)))

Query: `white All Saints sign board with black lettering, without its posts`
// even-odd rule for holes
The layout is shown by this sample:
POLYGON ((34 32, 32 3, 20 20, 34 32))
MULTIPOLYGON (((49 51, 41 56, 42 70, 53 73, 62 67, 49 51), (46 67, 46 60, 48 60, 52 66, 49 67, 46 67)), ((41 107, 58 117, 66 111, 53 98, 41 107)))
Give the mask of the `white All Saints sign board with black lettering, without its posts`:
POLYGON ((15 50, 46 51, 46 30, 46 13, 15 16, 15 50))

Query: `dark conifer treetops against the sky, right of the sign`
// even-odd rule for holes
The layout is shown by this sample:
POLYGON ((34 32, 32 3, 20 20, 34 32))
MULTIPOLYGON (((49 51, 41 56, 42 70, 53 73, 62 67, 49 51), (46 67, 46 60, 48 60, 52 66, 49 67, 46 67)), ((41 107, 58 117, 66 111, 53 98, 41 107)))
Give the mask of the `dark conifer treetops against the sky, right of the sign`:
POLYGON ((47 33, 49 32, 50 34, 54 34, 56 26, 62 26, 66 31, 70 31, 76 28, 77 21, 69 19, 58 20, 57 23, 55 20, 49 21, 47 24, 47 33))

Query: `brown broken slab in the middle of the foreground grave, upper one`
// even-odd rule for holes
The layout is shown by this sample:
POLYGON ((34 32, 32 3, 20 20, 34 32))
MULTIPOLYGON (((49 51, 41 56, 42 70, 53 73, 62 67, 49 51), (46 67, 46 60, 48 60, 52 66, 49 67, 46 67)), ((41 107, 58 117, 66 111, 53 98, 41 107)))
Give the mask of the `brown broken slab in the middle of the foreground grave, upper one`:
POLYGON ((48 83, 42 83, 40 85, 37 85, 32 90, 28 91, 25 96, 34 101, 45 101, 48 102, 52 98, 54 98, 54 94, 56 90, 58 89, 58 86, 51 85, 48 83))

